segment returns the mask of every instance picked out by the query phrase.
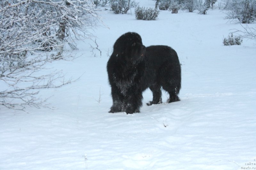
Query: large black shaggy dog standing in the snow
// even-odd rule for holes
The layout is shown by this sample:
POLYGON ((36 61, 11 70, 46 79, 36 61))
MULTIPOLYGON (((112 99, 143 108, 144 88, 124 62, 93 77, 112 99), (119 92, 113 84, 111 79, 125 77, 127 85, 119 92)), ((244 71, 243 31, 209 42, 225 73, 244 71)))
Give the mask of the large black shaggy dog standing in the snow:
POLYGON ((127 32, 119 37, 107 64, 113 105, 111 113, 140 112, 142 92, 153 92, 147 105, 162 103, 161 87, 170 95, 168 103, 180 101, 181 69, 177 53, 169 46, 142 45, 139 34, 127 32))

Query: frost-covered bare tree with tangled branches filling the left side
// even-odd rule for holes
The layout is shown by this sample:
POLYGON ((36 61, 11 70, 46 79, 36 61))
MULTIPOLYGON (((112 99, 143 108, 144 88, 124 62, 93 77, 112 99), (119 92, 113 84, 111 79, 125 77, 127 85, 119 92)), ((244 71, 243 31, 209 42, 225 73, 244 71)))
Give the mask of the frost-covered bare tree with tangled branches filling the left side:
POLYGON ((76 48, 76 39, 90 39, 99 21, 90 0, 0 1, 0 105, 44 107, 40 89, 72 80, 61 71, 42 70, 47 63, 72 59, 63 55, 64 45, 76 48))

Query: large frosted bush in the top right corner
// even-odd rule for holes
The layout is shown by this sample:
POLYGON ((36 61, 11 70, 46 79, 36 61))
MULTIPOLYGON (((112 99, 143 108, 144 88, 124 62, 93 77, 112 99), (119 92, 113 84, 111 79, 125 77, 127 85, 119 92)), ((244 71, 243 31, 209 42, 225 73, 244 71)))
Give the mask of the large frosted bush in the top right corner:
POLYGON ((230 0, 227 9, 227 19, 238 19, 243 24, 256 20, 256 0, 230 0))

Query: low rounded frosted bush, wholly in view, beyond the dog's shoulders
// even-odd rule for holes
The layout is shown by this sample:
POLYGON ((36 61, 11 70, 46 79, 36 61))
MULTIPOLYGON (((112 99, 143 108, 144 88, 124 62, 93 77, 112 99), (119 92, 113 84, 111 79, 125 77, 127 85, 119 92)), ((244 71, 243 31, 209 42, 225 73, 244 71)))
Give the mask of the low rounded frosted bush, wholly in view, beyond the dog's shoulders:
POLYGON ((137 6, 135 8, 135 17, 136 19, 142 19, 142 20, 156 20, 159 11, 157 9, 153 8, 146 8, 137 6))

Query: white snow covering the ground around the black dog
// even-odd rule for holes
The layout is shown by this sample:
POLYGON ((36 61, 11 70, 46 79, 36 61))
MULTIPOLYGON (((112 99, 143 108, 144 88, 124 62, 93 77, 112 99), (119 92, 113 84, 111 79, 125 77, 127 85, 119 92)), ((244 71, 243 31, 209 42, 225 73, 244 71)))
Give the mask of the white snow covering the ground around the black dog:
POLYGON ((136 20, 133 11, 103 11, 108 28, 94 30, 102 56, 95 51, 93 57, 92 42, 81 41, 72 52, 80 57, 49 64, 67 79, 82 75, 60 89, 41 90, 56 109, 1 107, 0 169, 256 169, 255 41, 223 46, 223 36, 242 26, 218 9, 207 15, 161 11, 155 21, 136 20), (141 113, 108 113, 107 54, 128 31, 139 33, 145 46, 176 50, 180 102, 147 106, 152 93, 146 90, 141 113))

